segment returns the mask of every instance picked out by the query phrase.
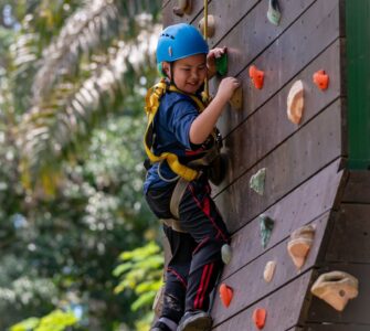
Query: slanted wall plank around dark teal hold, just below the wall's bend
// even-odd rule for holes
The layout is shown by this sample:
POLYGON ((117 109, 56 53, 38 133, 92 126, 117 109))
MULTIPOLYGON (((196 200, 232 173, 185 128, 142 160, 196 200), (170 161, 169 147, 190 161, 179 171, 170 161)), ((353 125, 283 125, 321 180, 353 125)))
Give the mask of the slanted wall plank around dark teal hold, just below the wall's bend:
MULTIPOLYGON (((343 181, 343 172, 338 173, 337 170, 338 162, 330 164, 265 212, 275 221, 267 249, 287 237, 295 228, 334 207, 337 190, 343 181)), ((229 277, 263 254, 258 233, 260 223, 254 218, 234 234, 231 242, 232 259, 222 278, 229 277)))

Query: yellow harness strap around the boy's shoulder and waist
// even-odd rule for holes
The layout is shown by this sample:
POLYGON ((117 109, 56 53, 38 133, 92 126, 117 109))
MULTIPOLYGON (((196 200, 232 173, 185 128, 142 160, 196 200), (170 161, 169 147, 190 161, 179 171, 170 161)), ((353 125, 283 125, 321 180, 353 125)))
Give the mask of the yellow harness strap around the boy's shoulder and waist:
MULTIPOLYGON (((187 181, 192 181, 199 175, 199 172, 194 169, 191 169, 187 166, 181 164, 177 154, 171 153, 171 152, 163 152, 160 156, 156 156, 152 152, 154 119, 159 108, 160 99, 167 90, 182 93, 181 90, 179 90, 177 87, 172 85, 168 87, 165 79, 161 79, 154 87, 149 88, 146 95, 145 111, 147 113, 148 125, 147 125, 147 129, 146 129, 145 138, 144 138, 145 151, 150 162, 154 163, 154 162, 160 162, 160 161, 166 160, 170 169, 176 174, 178 174, 179 177, 183 178, 187 181)), ((190 96, 194 100, 194 103, 198 105, 199 111, 204 110, 204 105, 200 99, 198 99, 195 96, 192 96, 192 95, 188 95, 188 96, 190 96)))

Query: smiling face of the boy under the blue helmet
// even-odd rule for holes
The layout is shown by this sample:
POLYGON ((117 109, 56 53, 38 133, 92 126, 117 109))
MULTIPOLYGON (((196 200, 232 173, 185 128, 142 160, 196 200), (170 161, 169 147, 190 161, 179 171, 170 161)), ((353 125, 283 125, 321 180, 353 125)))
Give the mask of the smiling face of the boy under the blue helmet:
MULTIPOLYGON (((167 76, 171 78, 169 63, 163 65, 167 76)), ((173 63, 172 71, 176 86, 182 92, 194 94, 202 86, 207 76, 205 54, 180 58, 173 63)))

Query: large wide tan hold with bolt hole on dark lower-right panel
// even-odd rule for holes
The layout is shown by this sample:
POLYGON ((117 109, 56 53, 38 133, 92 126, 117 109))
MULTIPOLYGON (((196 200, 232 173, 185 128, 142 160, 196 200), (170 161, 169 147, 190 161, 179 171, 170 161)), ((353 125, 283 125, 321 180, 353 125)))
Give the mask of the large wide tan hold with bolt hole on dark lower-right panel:
POLYGON ((332 308, 342 311, 349 299, 358 296, 357 278, 343 271, 331 271, 318 277, 311 287, 311 293, 325 300, 332 308))

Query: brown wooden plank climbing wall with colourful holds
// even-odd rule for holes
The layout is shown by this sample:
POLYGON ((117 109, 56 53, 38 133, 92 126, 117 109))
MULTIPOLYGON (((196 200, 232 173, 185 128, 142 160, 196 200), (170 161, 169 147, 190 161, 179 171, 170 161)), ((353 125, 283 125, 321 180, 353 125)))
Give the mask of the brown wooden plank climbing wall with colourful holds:
MULTIPOLYGON (((165 26, 198 26, 203 1, 183 11, 186 2, 163 1, 165 26)), ((228 47, 228 75, 243 90, 243 106, 229 106, 218 124, 229 167, 212 192, 233 252, 220 285, 233 296, 226 307, 218 288, 213 328, 370 330, 370 174, 347 167, 346 1, 279 0, 275 23, 266 15, 269 2, 208 1, 209 45, 228 47), (302 89, 292 89, 298 81, 302 89), (296 122, 287 117, 288 96, 293 110, 303 106, 296 122), (265 177, 256 179, 261 170, 265 177), (260 180, 260 191, 251 180, 260 180), (268 261, 276 268, 266 281, 268 261), (332 270, 349 276, 327 274, 332 270), (326 274, 327 281, 317 282, 326 274), (328 290, 321 297, 337 302, 357 295, 357 280, 358 296, 341 311, 311 293, 316 282, 328 290)), ((210 82, 211 93, 221 78, 210 82)))

